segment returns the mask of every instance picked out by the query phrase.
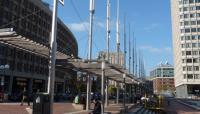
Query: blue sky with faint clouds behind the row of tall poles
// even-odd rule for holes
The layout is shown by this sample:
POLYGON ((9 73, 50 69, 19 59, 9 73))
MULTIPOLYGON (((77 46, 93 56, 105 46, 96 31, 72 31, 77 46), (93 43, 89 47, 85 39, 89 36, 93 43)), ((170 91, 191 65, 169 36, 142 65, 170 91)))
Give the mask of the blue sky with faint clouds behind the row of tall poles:
MULTIPOLYGON (((53 6, 53 0, 43 0, 53 6)), ((111 2, 110 50, 116 51, 116 6, 111 2)), ((124 15, 126 34, 136 38, 142 53, 147 76, 159 63, 173 65, 170 0, 120 0, 120 49, 123 50, 124 15), (133 35, 134 33, 134 35, 133 35)), ((70 28, 78 42, 79 57, 87 58, 89 30, 89 0, 65 0, 58 5, 58 17, 70 28)), ((106 0, 95 0, 92 57, 106 50, 106 0)))

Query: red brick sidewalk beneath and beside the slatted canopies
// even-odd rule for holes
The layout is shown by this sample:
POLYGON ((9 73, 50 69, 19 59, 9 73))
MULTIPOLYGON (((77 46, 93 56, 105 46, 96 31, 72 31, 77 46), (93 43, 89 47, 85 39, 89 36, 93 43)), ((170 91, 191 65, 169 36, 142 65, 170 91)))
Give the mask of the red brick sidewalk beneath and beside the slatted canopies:
MULTIPOLYGON (((91 109, 93 109, 93 104, 91 104, 91 109)), ((134 104, 126 104, 127 109, 131 109, 134 104)), ((122 104, 110 104, 105 107, 105 112, 110 112, 111 114, 120 114, 124 110, 122 104)), ((91 110, 92 111, 92 110, 91 110)), ((77 110, 73 107, 72 103, 54 103, 54 114, 88 114, 91 111, 77 110)), ((20 106, 20 103, 0 103, 0 114, 31 114, 32 104, 27 106, 25 103, 20 106)))

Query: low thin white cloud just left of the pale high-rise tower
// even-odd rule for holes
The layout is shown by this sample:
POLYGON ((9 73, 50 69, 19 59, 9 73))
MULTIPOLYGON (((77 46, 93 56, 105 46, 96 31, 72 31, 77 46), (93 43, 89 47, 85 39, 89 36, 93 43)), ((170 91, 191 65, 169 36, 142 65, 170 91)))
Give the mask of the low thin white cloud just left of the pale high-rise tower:
POLYGON ((141 46, 140 49, 149 51, 151 53, 162 53, 162 52, 166 53, 172 51, 171 47, 157 48, 153 46, 141 46))

